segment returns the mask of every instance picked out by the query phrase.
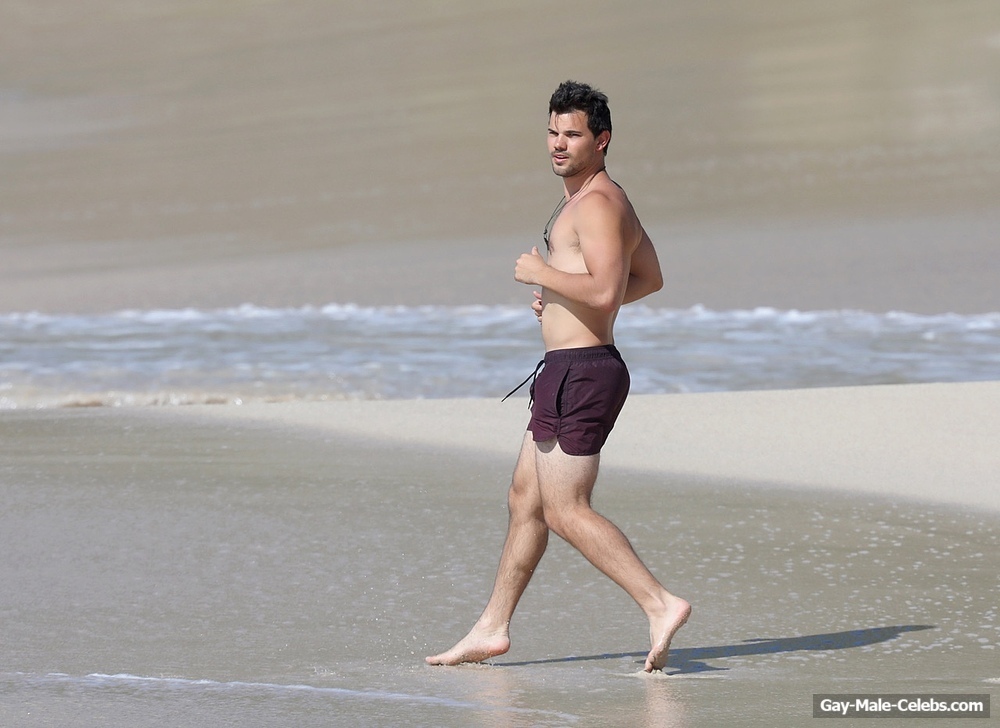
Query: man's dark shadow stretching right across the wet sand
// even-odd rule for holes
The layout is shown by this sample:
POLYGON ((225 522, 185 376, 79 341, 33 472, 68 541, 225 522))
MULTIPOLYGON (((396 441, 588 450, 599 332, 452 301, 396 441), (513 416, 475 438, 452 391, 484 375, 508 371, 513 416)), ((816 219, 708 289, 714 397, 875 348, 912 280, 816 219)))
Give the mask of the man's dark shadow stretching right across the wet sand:
MULTIPOLYGON (((670 658, 666 670, 672 674, 723 671, 728 668, 713 667, 706 660, 717 660, 724 657, 744 657, 747 655, 773 655, 780 652, 816 652, 826 650, 847 650, 855 647, 874 645, 896 639, 905 632, 917 632, 924 629, 934 629, 933 625, 909 624, 895 627, 872 627, 855 629, 847 632, 829 632, 802 637, 755 637, 735 645, 719 645, 717 647, 680 647, 670 650, 670 658)), ((547 660, 529 660, 526 662, 493 663, 503 667, 520 667, 524 665, 544 665, 556 662, 581 662, 584 660, 618 660, 625 657, 638 657, 645 660, 645 652, 618 652, 604 655, 586 655, 582 657, 557 657, 547 660)))

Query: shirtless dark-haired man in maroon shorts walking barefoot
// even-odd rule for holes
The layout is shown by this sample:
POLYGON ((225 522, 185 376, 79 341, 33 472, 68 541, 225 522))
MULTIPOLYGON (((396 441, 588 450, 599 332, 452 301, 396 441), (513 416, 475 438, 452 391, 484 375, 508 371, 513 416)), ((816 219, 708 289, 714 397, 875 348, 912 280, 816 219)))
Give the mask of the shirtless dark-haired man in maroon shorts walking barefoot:
POLYGON ((565 196, 545 231, 548 260, 533 248, 514 278, 540 286, 533 304, 545 365, 532 384, 532 415, 508 494, 510 521, 493 593, 461 641, 432 665, 482 662, 510 649, 518 600, 553 531, 631 596, 649 619, 645 670, 660 670, 691 605, 653 577, 625 535, 591 508, 600 450, 628 393, 614 347, 622 304, 660 289, 653 244, 624 191, 608 176, 607 97, 561 84, 549 102, 549 155, 565 196), (543 314, 544 312, 544 314, 543 314))

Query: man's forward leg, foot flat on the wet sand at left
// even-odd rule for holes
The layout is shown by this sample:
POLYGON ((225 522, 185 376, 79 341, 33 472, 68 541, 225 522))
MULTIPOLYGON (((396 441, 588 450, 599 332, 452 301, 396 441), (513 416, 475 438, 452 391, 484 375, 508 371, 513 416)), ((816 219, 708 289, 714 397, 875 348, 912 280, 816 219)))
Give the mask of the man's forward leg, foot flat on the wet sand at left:
POLYGON ((510 620, 548 545, 535 475, 535 443, 527 433, 507 496, 510 520, 493 592, 476 624, 447 652, 426 658, 430 665, 482 662, 510 649, 510 620))

